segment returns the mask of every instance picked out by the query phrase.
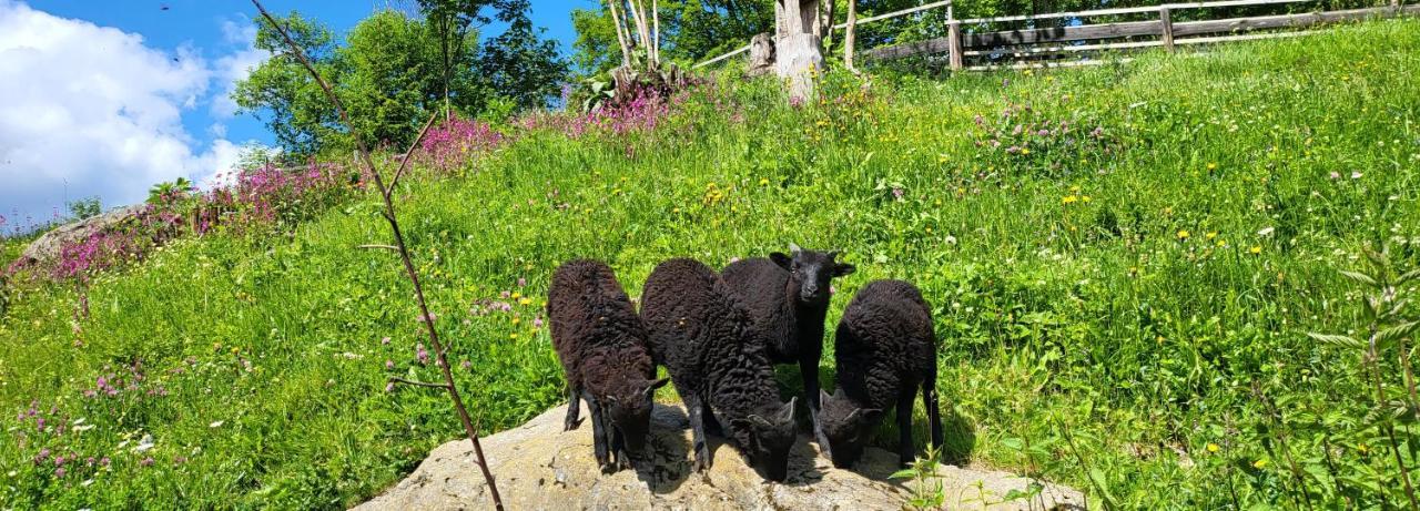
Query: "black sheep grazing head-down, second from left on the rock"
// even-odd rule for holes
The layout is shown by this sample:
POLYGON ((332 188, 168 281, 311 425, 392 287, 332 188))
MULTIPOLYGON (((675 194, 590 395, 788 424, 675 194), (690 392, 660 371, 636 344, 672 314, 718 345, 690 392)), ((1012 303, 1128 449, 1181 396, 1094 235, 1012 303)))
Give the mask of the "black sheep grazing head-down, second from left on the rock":
POLYGON ((656 361, 690 413, 694 470, 710 467, 706 424, 719 424, 751 466, 782 481, 797 437, 795 399, 780 400, 774 366, 744 338, 744 312, 724 281, 699 261, 669 260, 646 278, 640 304, 656 361))

